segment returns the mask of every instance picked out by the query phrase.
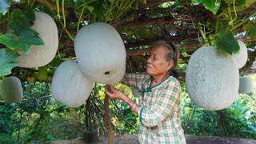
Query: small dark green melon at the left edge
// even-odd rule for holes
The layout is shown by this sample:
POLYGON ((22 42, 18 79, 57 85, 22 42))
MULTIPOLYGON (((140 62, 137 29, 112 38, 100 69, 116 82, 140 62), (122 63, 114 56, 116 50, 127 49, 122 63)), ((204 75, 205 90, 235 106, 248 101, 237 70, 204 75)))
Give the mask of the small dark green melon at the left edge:
POLYGON ((22 82, 17 77, 4 78, 0 82, 0 95, 5 102, 13 103, 22 100, 22 82))

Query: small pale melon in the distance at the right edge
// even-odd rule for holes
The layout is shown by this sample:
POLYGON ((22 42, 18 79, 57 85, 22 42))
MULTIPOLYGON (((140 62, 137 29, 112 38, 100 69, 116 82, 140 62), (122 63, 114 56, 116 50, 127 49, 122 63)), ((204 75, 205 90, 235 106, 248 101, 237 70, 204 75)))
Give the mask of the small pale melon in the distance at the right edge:
POLYGON ((241 77, 239 78, 239 93, 241 94, 249 94, 253 92, 254 84, 251 82, 250 78, 241 77))

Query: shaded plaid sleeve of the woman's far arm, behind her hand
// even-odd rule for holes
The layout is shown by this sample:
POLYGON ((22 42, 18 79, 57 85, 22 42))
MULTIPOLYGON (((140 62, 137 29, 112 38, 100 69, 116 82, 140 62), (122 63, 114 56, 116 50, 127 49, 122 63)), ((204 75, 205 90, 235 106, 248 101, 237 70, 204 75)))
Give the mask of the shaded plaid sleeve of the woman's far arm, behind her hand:
POLYGON ((146 78, 148 74, 146 73, 129 73, 125 74, 125 76, 122 78, 122 83, 126 84, 127 86, 134 87, 135 89, 138 89, 139 86, 141 86, 142 82, 146 78))

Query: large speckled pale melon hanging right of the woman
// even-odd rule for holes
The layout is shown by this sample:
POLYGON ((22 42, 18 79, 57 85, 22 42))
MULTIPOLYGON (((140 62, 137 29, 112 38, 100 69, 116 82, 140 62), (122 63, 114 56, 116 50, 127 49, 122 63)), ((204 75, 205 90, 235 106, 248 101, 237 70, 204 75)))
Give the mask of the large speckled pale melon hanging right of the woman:
POLYGON ((204 46, 192 54, 186 70, 186 87, 195 105, 222 110, 238 95, 238 68, 229 54, 204 46))

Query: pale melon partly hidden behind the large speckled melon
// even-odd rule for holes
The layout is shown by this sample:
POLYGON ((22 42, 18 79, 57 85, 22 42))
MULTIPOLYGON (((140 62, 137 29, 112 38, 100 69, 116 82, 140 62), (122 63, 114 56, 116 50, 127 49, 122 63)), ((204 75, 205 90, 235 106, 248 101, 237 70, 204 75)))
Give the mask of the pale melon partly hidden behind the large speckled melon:
POLYGON ((238 54, 234 54, 232 57, 234 58, 234 62, 236 62, 238 69, 241 69, 242 66, 246 65, 248 53, 244 42, 238 40, 238 45, 240 47, 240 50, 238 54))

